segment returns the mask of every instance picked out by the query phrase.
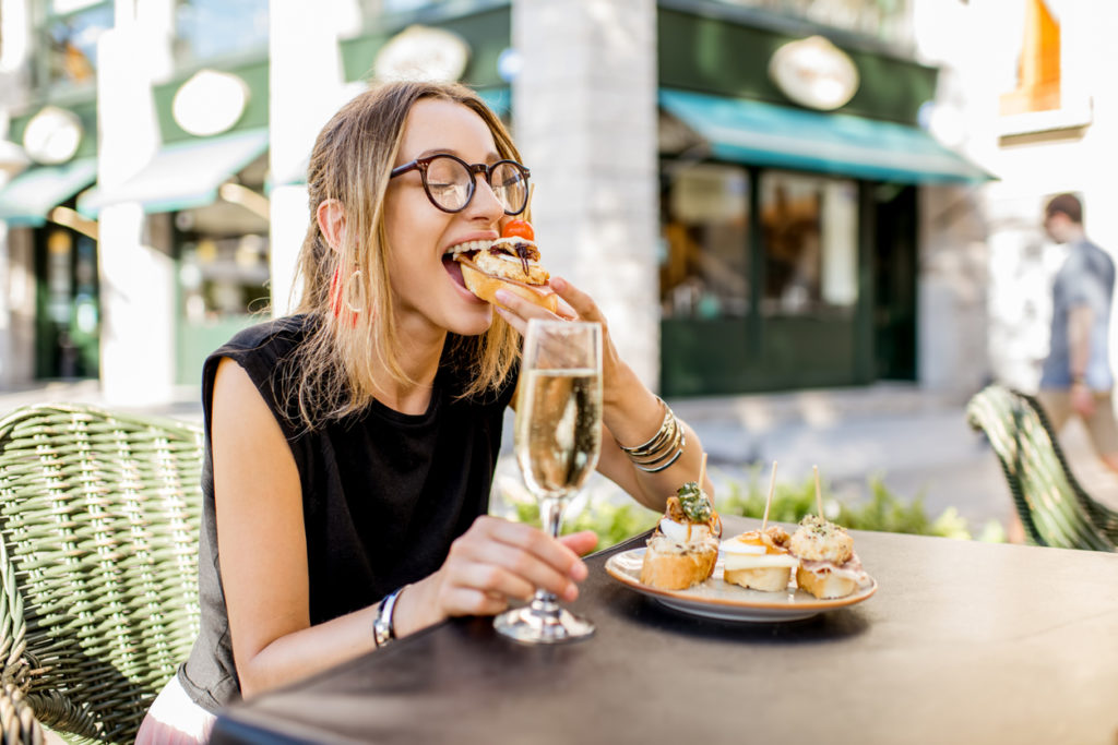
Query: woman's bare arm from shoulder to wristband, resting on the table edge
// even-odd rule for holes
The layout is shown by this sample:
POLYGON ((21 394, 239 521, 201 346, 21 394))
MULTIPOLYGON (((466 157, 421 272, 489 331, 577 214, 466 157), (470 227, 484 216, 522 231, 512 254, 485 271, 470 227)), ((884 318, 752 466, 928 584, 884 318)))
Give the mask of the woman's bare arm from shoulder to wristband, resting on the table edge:
POLYGON ((373 608, 310 628, 299 470, 248 374, 221 360, 211 422, 217 543, 246 698, 372 648, 373 608))

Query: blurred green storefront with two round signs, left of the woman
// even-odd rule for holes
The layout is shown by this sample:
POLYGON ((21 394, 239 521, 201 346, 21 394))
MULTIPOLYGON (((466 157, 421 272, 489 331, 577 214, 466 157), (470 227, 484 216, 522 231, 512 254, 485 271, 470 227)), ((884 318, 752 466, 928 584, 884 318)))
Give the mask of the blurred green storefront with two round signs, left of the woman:
POLYGON ((3 38, 26 39, 21 64, 0 71, 6 140, 28 163, 0 190, 0 219, 9 281, 26 278, 34 299, 6 308, 0 384, 104 379, 107 362, 152 380, 148 390, 125 380, 120 398, 159 399, 197 382, 205 353, 266 307, 267 10, 267 0, 4 4, 3 38), (121 204, 139 206, 136 248, 154 264, 119 245, 119 226, 103 230, 103 211, 121 204))

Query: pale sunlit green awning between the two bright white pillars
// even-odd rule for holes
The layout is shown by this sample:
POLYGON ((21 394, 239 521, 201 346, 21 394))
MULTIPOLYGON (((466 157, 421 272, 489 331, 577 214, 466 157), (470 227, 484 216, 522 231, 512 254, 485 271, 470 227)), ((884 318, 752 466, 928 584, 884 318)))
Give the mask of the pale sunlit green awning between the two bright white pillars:
POLYGON ((124 183, 94 187, 78 198, 77 210, 93 218, 108 204, 139 202, 145 212, 171 212, 217 201, 229 176, 268 147, 266 128, 164 145, 140 173, 124 183))

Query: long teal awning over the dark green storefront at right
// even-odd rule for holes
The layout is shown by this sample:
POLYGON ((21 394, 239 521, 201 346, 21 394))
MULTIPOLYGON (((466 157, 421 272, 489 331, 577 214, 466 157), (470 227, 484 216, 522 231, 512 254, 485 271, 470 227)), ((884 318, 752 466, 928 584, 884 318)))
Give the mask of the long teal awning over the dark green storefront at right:
POLYGON ((660 105, 719 160, 900 183, 993 178, 919 127, 665 88, 660 105))

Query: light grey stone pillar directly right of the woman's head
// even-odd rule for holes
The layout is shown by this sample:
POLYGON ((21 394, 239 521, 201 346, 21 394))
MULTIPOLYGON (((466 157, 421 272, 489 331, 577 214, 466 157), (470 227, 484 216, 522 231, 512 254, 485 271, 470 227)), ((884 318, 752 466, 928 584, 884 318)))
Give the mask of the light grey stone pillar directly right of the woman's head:
POLYGON ((514 135, 546 264, 595 298, 622 356, 655 388, 656 3, 514 0, 512 41, 523 61, 514 135))

